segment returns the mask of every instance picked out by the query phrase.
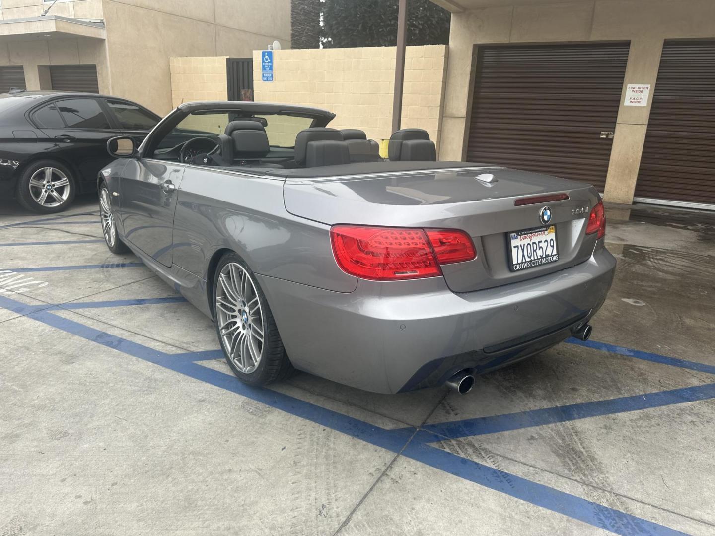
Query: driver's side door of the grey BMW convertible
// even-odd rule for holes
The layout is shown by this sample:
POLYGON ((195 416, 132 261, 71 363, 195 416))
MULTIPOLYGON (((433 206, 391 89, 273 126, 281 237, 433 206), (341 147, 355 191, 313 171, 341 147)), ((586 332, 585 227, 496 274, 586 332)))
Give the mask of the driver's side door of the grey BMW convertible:
POLYGON ((172 227, 186 164, 130 159, 119 179, 119 214, 124 239, 157 262, 173 262, 172 227))

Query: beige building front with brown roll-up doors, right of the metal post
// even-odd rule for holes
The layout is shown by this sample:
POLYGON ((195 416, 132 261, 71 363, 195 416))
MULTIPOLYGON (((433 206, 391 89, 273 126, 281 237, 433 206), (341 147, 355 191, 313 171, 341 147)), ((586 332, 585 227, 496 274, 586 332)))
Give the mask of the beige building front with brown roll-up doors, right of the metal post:
POLYGON ((441 159, 715 209, 715 2, 433 0, 452 12, 441 159))

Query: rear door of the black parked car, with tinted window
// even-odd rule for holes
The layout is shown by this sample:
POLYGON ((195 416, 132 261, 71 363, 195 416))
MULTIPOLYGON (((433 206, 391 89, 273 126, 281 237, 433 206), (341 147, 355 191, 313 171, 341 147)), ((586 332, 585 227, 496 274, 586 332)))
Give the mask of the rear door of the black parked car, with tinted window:
MULTIPOLYGON (((64 122, 64 126, 58 123, 52 126, 38 124, 47 139, 56 144, 50 153, 56 153, 74 164, 80 182, 94 182, 99 170, 112 160, 107 154, 107 140, 118 136, 120 131, 110 121, 97 98, 75 96, 56 99, 35 111, 33 117, 40 116, 47 106, 54 106, 64 122)), ((48 111, 52 110, 48 108, 48 111)))

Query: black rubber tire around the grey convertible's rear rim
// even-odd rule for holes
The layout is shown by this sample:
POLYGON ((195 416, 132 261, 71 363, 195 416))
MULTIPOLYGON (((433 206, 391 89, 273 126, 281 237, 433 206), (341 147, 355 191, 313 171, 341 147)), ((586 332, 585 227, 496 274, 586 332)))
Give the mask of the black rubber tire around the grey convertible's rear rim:
POLYGON ((253 274, 252 270, 248 267, 248 265, 239 255, 235 253, 227 253, 221 258, 219 264, 216 267, 212 289, 213 292, 211 305, 212 313, 214 315, 214 320, 216 324, 216 334, 219 338, 219 344, 221 345, 221 350, 224 354, 224 357, 226 358, 226 362, 228 363, 228 366, 231 367, 233 373, 236 374, 238 379, 240 379, 246 384, 261 386, 269 384, 275 379, 279 379, 280 377, 282 377, 284 375, 282 374, 282 372, 285 370, 286 367, 290 367, 292 369, 290 363, 287 362, 288 358, 285 354, 285 349, 283 348, 283 343, 280 340, 280 336, 278 336, 277 334, 275 321, 273 320, 273 315, 270 310, 270 306, 268 305, 268 300, 263 293, 263 289, 260 287, 260 284, 258 283, 255 274, 253 274), (220 326, 218 322, 218 315, 216 312, 216 291, 219 284, 219 275, 221 274, 221 270, 229 262, 235 262, 236 264, 240 264, 242 267, 245 268, 246 272, 250 274, 250 277, 253 281, 253 284, 255 285, 256 292, 258 294, 258 300, 261 305, 264 332, 263 350, 261 355, 261 361, 258 364, 258 367, 255 369, 254 372, 251 372, 250 374, 240 372, 240 370, 238 370, 232 363, 228 355, 227 349, 224 347, 224 343, 219 329, 220 326))

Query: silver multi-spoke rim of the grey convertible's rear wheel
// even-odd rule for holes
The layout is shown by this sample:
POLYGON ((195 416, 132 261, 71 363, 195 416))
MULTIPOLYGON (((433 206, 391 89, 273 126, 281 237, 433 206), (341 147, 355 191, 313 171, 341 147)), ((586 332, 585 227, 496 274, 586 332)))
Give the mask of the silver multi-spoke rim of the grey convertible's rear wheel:
POLYGON ((236 262, 219 274, 216 317, 231 362, 243 374, 254 372, 263 354, 263 314, 252 277, 236 262))

